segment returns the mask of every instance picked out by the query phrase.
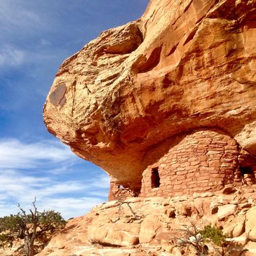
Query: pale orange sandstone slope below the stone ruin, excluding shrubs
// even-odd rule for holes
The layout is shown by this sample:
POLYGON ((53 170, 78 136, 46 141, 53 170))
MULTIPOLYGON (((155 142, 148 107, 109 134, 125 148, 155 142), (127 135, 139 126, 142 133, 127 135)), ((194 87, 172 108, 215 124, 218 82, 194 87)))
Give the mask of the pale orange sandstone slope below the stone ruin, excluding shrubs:
MULTIPOLYGON (((179 248, 182 224, 212 224, 227 234, 229 255, 256 255, 256 186, 173 197, 129 198, 69 220, 38 256, 195 255, 179 248)), ((217 255, 209 245, 213 255, 217 255)), ((1 252, 13 255, 13 252, 1 252)))

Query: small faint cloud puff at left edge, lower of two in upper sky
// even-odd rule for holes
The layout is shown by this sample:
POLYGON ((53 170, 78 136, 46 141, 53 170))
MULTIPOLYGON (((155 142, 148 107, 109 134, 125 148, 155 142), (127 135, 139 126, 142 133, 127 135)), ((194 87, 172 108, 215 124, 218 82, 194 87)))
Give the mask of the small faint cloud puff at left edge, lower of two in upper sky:
POLYGON ((0 50, 0 66, 19 66, 25 60, 25 52, 13 46, 3 46, 0 50))

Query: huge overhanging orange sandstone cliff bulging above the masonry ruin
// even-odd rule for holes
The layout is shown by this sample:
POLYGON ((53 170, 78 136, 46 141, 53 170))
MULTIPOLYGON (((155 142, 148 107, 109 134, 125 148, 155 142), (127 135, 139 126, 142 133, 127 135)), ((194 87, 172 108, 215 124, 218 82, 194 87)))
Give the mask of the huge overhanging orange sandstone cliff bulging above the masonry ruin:
POLYGON ((255 156, 255 20, 255 1, 151 0, 62 63, 48 130, 135 192, 166 154, 152 149, 195 129, 222 130, 255 156))

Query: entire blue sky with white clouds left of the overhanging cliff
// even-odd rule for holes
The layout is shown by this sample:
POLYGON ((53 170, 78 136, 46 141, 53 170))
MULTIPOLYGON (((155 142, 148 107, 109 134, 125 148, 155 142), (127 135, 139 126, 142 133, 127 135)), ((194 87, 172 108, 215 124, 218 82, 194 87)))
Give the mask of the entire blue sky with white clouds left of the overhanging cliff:
POLYGON ((107 201, 108 177, 50 135, 43 103, 60 64, 100 32, 140 18, 148 0, 0 1, 0 216, 66 218, 107 201))

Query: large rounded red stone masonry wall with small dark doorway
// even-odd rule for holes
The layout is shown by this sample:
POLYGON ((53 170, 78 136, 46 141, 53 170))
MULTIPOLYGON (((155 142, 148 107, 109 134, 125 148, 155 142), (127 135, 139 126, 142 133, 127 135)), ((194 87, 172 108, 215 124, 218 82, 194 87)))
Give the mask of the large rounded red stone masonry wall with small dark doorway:
POLYGON ((238 144, 218 130, 196 130, 184 137, 142 177, 140 196, 170 196, 222 189, 241 182, 238 144))

